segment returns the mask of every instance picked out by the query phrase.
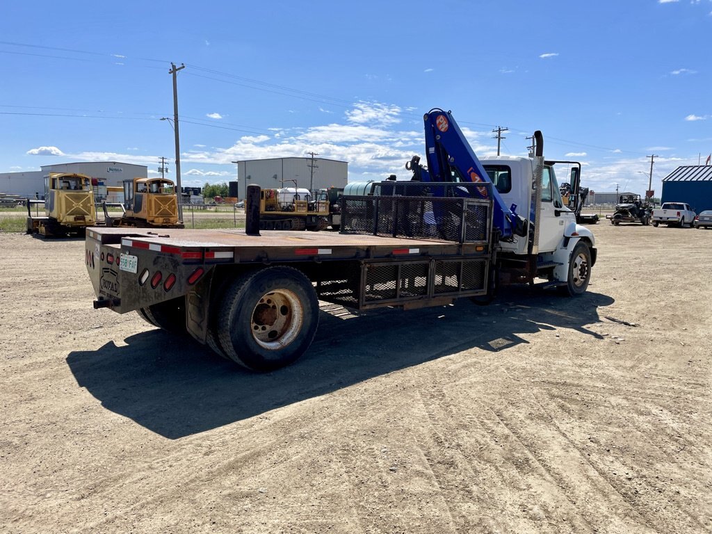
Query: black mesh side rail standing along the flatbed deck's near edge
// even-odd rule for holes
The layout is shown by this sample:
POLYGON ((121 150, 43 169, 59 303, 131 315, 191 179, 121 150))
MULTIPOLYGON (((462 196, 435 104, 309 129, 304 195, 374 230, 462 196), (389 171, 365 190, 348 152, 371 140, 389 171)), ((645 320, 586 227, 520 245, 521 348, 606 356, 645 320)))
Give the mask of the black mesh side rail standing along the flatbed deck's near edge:
POLYGON ((487 243, 491 200, 456 197, 342 197, 341 233, 487 243))

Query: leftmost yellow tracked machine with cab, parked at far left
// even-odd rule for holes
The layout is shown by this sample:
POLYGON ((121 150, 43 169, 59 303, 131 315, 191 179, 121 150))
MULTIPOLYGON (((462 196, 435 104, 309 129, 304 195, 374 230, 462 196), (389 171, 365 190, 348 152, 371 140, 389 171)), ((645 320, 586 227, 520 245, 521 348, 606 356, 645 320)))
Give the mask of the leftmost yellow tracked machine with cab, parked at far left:
POLYGON ((51 172, 44 177, 45 216, 32 216, 31 205, 42 201, 27 201, 27 233, 63 237, 84 235, 87 226, 96 224, 94 192, 90 177, 70 172, 51 172))

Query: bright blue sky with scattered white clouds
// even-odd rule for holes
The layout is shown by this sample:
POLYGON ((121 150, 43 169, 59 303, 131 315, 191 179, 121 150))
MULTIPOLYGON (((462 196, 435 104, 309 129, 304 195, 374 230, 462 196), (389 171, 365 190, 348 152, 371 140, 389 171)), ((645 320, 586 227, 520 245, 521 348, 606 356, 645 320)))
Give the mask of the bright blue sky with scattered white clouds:
POLYGON ((712 152, 712 1, 16 2, 0 19, 0 172, 146 164, 184 185, 231 161, 349 162, 407 177, 422 115, 452 110, 479 156, 577 159, 583 182, 643 194, 712 152))

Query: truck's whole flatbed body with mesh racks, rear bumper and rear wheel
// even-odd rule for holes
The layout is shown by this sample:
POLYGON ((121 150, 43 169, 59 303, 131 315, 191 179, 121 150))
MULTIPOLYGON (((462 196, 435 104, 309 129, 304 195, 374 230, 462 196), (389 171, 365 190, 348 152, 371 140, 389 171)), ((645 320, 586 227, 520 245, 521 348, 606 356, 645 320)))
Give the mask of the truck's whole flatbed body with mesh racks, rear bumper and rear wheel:
POLYGON ((89 229, 85 263, 94 306, 137 310, 159 328, 188 333, 219 355, 265 371, 307 350, 318 300, 409 309, 487 295, 496 253, 491 201, 351 201, 355 215, 347 209, 338 234, 89 229), (395 216, 396 204, 407 206, 402 216, 395 216), (442 224, 433 224, 432 210, 442 211, 442 224))

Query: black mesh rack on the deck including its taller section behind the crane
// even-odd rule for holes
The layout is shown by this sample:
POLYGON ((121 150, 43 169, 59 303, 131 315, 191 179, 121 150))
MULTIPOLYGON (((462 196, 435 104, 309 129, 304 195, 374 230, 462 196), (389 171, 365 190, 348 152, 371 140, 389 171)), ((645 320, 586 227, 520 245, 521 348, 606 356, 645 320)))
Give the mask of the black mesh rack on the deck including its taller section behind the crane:
POLYGON ((384 182, 372 195, 342 197, 342 234, 486 244, 491 184, 384 182))

